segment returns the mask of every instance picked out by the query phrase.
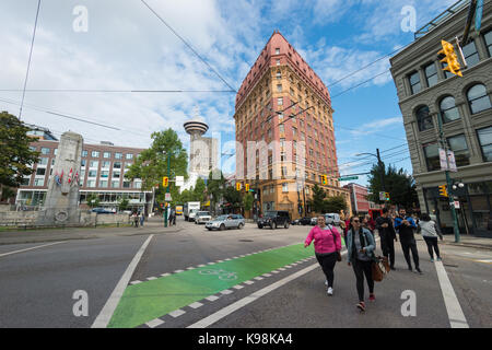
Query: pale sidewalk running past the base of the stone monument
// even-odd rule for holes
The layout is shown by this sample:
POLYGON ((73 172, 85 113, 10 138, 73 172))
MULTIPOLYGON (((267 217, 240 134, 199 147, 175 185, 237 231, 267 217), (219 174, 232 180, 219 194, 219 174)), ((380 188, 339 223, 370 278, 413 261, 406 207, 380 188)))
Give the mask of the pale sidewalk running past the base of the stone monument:
POLYGON ((175 226, 164 228, 162 220, 152 218, 150 221, 145 221, 143 226, 139 228, 71 228, 5 231, 0 232, 0 245, 175 233, 181 230, 180 222, 177 222, 175 226))

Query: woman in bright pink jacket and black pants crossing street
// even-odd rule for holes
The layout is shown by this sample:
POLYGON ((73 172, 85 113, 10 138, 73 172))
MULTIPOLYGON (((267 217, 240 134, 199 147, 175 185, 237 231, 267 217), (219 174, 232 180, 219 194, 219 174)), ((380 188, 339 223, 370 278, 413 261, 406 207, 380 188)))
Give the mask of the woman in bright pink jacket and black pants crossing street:
POLYGON ((304 247, 307 248, 314 240, 316 259, 326 276, 327 293, 328 295, 333 295, 333 269, 338 252, 341 250, 341 237, 337 229, 326 225, 324 215, 319 215, 317 222, 318 224, 307 235, 304 247))

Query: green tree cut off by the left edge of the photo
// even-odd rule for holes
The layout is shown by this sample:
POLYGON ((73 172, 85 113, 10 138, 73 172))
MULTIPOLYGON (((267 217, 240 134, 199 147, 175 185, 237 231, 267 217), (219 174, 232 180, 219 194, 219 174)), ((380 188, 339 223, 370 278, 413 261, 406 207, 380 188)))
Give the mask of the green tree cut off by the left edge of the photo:
POLYGON ((37 162, 39 152, 30 148, 32 138, 27 128, 15 116, 0 113, 0 195, 3 186, 20 187, 24 176, 33 174, 32 165, 37 162))

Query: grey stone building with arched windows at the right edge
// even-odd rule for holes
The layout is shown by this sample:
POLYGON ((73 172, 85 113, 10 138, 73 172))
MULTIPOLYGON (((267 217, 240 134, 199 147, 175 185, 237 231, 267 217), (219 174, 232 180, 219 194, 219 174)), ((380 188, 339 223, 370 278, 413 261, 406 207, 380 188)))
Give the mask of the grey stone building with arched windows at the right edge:
MULTIPOLYGON (((468 1, 458 1, 415 33, 415 40, 390 59, 409 143, 422 211, 436 214, 444 232, 453 232, 449 201, 440 196, 446 184, 440 165, 440 127, 455 153, 452 173, 460 232, 492 235, 492 3, 485 2, 482 30, 470 31, 462 47, 468 67, 462 78, 443 68, 441 40, 461 38, 468 1), (462 186, 462 185, 461 185, 462 186)), ((462 62, 461 62, 461 66, 462 62)))

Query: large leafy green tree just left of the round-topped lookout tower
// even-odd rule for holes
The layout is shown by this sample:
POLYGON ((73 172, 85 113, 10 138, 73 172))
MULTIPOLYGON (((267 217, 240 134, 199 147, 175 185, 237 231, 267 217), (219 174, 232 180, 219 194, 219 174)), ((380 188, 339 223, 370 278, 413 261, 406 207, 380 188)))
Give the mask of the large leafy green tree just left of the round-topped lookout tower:
MULTIPOLYGON (((187 179, 188 153, 184 149, 176 131, 167 129, 154 132, 152 133, 152 139, 151 148, 140 153, 125 174, 125 177, 128 179, 141 178, 142 190, 151 190, 157 184, 162 186, 163 177, 167 176, 167 155, 171 154, 169 179, 176 178, 176 175, 185 176, 185 179, 187 179)), ((173 187, 175 184, 169 182, 169 186, 173 187)))

